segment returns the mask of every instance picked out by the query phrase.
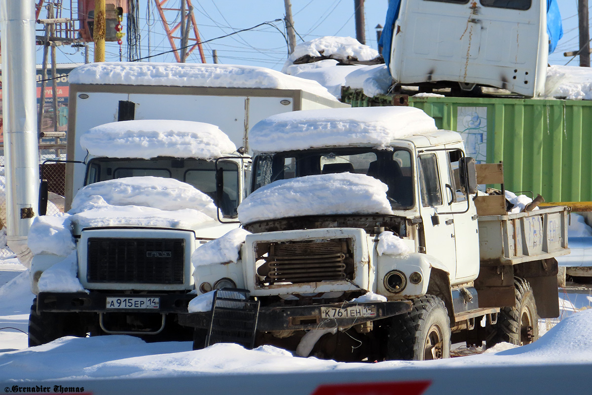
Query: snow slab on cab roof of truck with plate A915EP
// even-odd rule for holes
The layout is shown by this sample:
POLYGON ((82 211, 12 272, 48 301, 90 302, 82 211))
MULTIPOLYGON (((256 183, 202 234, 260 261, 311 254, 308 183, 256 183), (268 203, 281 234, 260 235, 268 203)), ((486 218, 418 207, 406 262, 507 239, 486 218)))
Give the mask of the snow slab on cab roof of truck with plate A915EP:
POLYGON ((213 159, 236 151, 217 126, 195 121, 133 120, 93 127, 80 137, 83 149, 109 158, 213 159))

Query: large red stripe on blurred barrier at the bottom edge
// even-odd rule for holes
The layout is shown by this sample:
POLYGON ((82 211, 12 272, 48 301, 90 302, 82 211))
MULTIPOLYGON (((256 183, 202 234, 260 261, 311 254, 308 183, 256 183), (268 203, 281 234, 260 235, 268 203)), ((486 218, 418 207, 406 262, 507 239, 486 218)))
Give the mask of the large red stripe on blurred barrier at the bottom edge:
POLYGON ((311 395, 421 395, 431 381, 394 383, 322 384, 311 395))

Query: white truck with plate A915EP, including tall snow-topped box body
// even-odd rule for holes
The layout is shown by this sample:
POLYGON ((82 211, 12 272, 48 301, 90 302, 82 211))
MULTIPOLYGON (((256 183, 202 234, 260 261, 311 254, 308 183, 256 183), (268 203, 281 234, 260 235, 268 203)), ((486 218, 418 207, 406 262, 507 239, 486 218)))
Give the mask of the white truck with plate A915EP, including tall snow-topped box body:
MULTIPOLYGON (((57 245, 63 236, 58 230, 65 230, 76 256, 70 257, 68 248, 31 246, 31 289, 37 297, 29 344, 86 333, 183 339, 175 313, 186 311, 192 298, 191 254, 238 226, 236 207, 249 190, 252 124, 284 111, 349 105, 316 82, 250 66, 94 63, 73 70, 69 82, 65 207, 75 210, 57 230, 49 226, 47 237, 57 245), (211 220, 179 219, 172 206, 153 214, 163 206, 153 207, 152 198, 169 194, 174 205, 175 191, 183 188, 157 180, 153 184, 160 187, 150 188, 151 177, 190 185, 195 191, 186 193, 198 198, 178 208, 199 211, 214 204, 214 211, 206 210, 211 220), (127 178, 140 179, 91 188, 127 178), (110 201, 104 195, 108 185, 142 191, 134 197, 143 203, 110 201), (147 209, 114 219, 105 208, 105 218, 89 221, 88 212, 79 210, 93 208, 96 200, 115 206, 115 213, 120 205, 147 209), (51 272, 43 279, 65 261, 75 266, 70 280, 79 286, 52 285, 51 272)), ((37 225, 43 229, 44 223, 41 217, 37 225)))

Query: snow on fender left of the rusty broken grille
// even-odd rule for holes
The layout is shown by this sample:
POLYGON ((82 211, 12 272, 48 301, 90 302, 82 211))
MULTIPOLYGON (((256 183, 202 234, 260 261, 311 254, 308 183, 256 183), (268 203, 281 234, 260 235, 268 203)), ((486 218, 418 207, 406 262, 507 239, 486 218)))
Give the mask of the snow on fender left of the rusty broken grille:
MULTIPOLYGON (((213 264, 229 264, 239 259, 240 245, 244 243, 245 237, 250 235, 244 229, 233 229, 218 239, 199 246, 191 255, 191 262, 194 266, 213 264)), ((197 278, 195 279, 197 282, 197 278)))

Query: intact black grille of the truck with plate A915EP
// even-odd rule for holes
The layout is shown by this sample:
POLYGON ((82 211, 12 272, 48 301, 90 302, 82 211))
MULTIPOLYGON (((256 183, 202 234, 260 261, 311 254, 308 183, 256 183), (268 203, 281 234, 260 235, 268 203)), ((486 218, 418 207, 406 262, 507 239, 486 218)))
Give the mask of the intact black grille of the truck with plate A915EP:
POLYGON ((184 239, 89 237, 87 258, 88 282, 184 282, 184 239))

